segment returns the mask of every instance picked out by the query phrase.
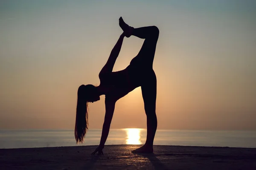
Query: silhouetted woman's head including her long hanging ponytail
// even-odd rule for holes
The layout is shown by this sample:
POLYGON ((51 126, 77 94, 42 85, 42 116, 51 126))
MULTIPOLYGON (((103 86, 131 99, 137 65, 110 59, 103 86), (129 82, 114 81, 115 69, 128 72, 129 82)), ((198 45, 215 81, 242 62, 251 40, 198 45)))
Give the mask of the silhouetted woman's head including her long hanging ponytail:
POLYGON ((88 102, 99 100, 99 93, 94 85, 81 85, 77 91, 76 105, 76 142, 83 142, 84 136, 88 130, 88 102))

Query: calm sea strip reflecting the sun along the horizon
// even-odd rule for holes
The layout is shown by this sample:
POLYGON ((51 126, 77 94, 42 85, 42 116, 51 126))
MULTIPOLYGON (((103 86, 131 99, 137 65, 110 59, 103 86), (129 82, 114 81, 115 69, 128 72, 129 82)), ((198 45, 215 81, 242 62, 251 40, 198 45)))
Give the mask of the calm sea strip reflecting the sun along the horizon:
MULTIPOLYGON (((0 148, 98 145, 101 129, 90 129, 83 144, 73 130, 0 130, 0 148)), ((111 129, 106 144, 144 144, 146 129, 111 129)), ((154 144, 256 147, 256 131, 157 130, 154 144)))

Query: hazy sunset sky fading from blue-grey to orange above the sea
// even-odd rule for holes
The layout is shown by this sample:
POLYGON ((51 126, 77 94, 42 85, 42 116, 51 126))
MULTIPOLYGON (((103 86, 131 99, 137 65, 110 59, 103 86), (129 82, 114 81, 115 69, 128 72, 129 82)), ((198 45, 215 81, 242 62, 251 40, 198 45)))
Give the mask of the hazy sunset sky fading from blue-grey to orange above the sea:
MULTIPOLYGON (((157 26, 158 129, 256 130, 256 1, 0 1, 0 129, 73 129, 77 89, 122 34, 157 26)), ((113 71, 143 39, 125 38, 113 71)), ((89 104, 102 128, 105 96, 89 104)), ((146 128, 141 89, 116 102, 111 128, 146 128)))

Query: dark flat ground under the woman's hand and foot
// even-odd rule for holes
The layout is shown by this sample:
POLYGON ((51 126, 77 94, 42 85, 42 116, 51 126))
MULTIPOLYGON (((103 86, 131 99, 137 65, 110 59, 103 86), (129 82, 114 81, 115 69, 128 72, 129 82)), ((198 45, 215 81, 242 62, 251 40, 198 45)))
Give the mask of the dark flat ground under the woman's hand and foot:
POLYGON ((256 170, 256 148, 154 146, 152 154, 134 154, 140 145, 0 149, 0 170, 256 170))

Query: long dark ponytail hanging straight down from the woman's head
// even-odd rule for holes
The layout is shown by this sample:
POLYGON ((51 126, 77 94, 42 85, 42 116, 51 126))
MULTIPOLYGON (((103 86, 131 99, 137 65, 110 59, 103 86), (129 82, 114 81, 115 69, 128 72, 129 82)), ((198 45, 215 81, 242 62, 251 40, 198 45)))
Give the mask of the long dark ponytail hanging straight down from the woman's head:
POLYGON ((75 138, 76 143, 83 143, 84 136, 88 130, 88 102, 84 99, 85 85, 81 85, 77 92, 77 105, 76 105, 76 125, 75 125, 75 138))

